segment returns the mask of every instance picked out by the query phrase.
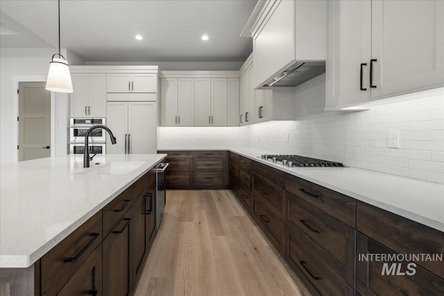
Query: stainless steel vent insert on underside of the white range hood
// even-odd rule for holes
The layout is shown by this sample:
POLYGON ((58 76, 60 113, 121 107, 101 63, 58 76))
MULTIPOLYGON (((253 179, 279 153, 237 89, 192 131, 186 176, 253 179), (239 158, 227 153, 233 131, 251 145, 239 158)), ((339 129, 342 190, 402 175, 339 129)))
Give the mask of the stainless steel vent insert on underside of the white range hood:
POLYGON ((261 89, 296 87, 311 78, 325 73, 325 62, 294 62, 275 78, 268 80, 261 89))

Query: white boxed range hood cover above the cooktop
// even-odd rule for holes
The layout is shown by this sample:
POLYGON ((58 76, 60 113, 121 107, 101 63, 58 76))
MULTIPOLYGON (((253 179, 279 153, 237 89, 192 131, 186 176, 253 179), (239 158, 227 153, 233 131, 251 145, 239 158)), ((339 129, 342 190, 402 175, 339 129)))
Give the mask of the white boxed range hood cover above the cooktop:
POLYGON ((268 0, 251 33, 257 88, 296 60, 325 60, 327 1, 268 0))

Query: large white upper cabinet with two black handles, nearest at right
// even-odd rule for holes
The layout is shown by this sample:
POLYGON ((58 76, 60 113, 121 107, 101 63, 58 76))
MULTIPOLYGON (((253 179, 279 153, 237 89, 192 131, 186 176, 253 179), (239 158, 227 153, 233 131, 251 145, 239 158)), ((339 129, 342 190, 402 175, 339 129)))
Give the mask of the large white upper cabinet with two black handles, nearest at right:
POLYGON ((327 110, 442 87, 444 2, 328 1, 327 110))

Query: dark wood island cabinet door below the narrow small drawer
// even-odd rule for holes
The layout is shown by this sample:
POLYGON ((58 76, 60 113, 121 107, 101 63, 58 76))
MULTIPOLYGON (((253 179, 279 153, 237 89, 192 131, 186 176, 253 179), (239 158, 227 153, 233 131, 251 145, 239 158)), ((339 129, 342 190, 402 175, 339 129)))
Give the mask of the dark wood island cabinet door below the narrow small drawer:
POLYGON ((130 210, 103 241, 103 295, 133 292, 133 223, 130 210))

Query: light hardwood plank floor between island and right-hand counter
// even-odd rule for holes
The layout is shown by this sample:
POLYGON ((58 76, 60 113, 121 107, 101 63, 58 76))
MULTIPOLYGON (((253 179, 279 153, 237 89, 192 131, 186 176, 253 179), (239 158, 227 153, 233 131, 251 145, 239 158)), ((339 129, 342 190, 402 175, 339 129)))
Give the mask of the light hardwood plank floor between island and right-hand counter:
POLYGON ((135 295, 309 293, 230 191, 170 190, 135 295))

